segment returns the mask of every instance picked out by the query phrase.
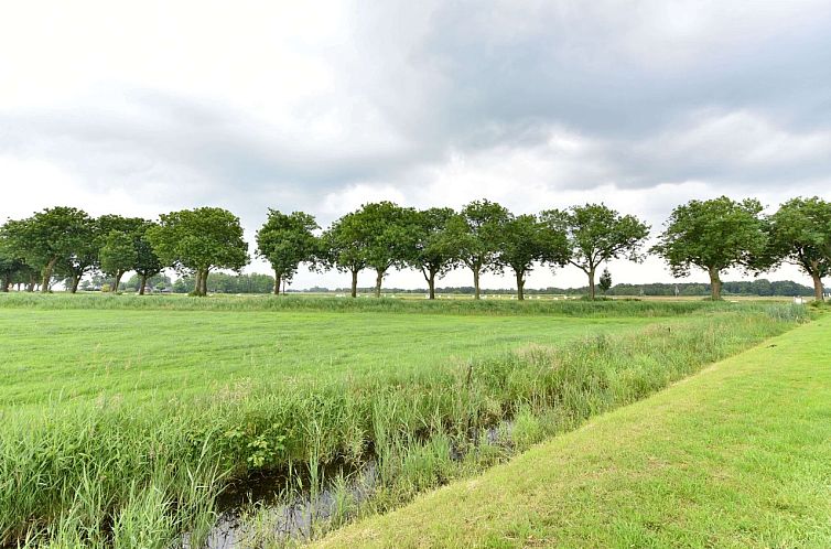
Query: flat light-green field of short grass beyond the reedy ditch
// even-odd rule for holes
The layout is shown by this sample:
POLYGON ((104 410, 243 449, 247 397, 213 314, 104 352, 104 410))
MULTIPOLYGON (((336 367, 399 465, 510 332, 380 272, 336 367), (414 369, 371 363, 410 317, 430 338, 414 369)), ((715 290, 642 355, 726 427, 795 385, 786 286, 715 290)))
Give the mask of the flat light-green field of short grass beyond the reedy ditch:
POLYGON ((261 380, 444 368, 655 317, 2 309, 0 413, 98 397, 165 400, 261 380))

